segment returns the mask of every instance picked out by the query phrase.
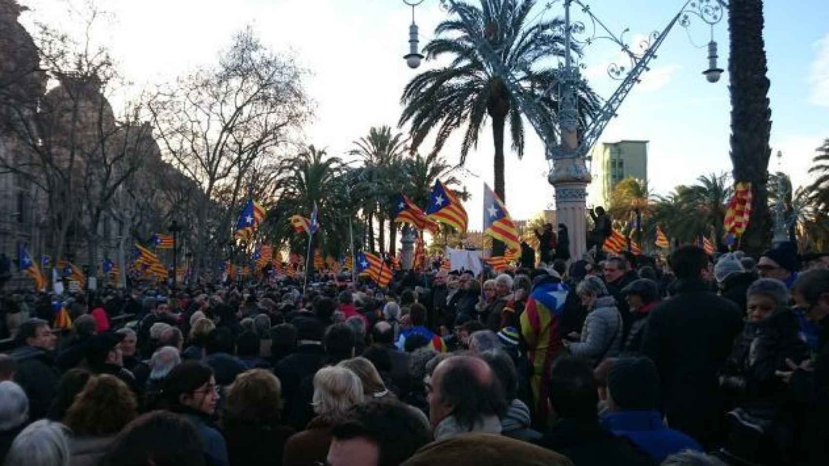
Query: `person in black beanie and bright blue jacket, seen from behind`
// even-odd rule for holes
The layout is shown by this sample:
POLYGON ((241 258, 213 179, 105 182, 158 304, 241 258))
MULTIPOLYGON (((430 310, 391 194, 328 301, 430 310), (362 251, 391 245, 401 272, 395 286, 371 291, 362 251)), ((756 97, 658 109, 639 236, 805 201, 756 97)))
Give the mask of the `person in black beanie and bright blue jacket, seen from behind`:
POLYGON ((659 406, 659 374, 648 358, 614 359, 608 372, 608 411, 602 425, 627 437, 650 454, 656 464, 685 449, 703 449, 688 435, 667 427, 659 406))

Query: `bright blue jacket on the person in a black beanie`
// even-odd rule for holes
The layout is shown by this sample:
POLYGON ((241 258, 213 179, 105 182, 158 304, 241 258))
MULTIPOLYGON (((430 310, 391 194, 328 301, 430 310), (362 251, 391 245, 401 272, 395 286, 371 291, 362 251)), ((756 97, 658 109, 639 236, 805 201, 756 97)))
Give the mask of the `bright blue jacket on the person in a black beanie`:
POLYGON ((602 425, 614 435, 628 437, 657 464, 684 449, 702 452, 700 444, 679 430, 669 429, 659 411, 614 411, 602 416, 602 425))

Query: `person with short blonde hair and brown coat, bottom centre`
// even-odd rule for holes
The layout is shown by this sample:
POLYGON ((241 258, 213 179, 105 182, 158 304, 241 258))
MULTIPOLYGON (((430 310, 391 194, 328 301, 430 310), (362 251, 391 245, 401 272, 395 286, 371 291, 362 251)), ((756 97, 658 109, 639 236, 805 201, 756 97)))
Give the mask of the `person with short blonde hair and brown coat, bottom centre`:
POLYGON ((331 445, 331 428, 345 418, 351 406, 363 401, 360 377, 349 368, 329 366, 313 377, 313 411, 317 417, 302 432, 288 439, 282 458, 284 466, 325 463, 331 445))

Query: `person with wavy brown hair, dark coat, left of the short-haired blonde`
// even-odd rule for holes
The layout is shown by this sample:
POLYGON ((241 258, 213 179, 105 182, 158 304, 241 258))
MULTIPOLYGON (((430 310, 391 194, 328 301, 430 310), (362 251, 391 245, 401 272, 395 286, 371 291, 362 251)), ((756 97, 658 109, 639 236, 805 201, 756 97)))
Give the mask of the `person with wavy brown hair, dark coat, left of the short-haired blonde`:
POLYGON ((293 429, 281 422, 282 387, 265 369, 236 376, 227 389, 223 427, 230 465, 282 464, 285 441, 293 429))

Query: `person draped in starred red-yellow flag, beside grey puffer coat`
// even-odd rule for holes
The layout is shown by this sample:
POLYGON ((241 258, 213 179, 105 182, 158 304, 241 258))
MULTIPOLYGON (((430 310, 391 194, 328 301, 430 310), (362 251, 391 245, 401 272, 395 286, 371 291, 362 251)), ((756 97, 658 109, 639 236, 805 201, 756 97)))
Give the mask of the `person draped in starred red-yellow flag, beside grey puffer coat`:
POLYGON ((550 381, 553 358, 563 348, 560 324, 569 292, 570 288, 560 278, 549 274, 538 276, 520 316, 521 335, 526 341, 527 358, 532 367, 532 401, 536 419, 540 420, 546 420, 549 411, 547 382, 550 381))

